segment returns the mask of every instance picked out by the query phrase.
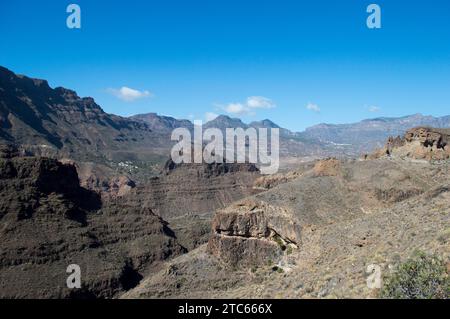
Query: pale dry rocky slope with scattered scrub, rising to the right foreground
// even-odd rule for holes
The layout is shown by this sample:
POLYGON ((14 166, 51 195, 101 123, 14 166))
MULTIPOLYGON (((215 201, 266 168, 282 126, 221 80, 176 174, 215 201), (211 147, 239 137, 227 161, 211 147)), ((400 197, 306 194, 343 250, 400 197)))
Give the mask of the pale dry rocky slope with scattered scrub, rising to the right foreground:
POLYGON ((328 159, 278 176, 265 192, 218 210, 208 244, 122 297, 373 298, 370 265, 385 276, 423 251, 450 268, 449 162, 404 152, 431 152, 434 135, 423 132, 436 131, 412 130, 396 146, 390 139, 390 154, 376 159, 328 159))

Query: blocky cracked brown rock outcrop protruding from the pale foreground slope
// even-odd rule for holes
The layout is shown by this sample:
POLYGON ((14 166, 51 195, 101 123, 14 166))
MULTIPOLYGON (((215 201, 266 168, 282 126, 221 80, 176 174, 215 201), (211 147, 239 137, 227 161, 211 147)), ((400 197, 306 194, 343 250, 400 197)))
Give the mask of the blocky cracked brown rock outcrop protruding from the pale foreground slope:
POLYGON ((231 266, 258 265, 276 261, 300 240, 289 211, 246 200, 217 212, 208 251, 231 266))

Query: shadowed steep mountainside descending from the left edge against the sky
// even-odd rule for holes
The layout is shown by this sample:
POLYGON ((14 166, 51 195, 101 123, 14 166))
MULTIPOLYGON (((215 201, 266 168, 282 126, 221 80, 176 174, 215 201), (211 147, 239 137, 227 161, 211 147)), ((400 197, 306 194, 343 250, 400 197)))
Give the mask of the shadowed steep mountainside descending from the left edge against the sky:
POLYGON ((0 67, 0 141, 33 154, 108 163, 167 154, 167 136, 105 113, 92 98, 0 67))

